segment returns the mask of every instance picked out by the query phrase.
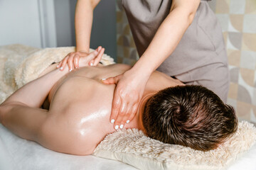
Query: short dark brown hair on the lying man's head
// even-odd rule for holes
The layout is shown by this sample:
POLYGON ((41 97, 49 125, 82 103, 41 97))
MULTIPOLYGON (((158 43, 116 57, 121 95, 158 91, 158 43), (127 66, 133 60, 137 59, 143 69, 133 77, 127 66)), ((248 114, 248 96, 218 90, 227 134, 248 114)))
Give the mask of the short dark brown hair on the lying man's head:
POLYGON ((161 142, 208 151, 238 130, 235 110, 203 86, 175 86, 146 101, 146 135, 161 142))

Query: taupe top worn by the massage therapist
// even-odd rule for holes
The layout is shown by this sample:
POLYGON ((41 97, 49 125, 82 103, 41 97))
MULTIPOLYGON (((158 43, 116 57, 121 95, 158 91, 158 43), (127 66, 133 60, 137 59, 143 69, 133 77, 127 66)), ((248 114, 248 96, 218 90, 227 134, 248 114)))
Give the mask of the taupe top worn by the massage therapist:
MULTIPOLYGON (((168 16, 171 3, 171 0, 122 0, 139 56, 168 16)), ((226 57, 218 56, 224 49, 223 34, 215 13, 207 1, 201 1, 193 23, 158 70, 175 76, 213 62, 226 63, 226 57)))

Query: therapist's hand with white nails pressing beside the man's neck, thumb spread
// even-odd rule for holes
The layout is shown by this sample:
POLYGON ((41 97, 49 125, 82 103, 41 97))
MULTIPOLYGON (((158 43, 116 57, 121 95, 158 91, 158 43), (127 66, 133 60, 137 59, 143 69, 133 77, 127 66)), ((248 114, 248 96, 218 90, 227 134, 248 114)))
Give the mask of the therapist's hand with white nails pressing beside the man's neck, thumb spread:
POLYGON ((125 123, 129 123, 136 115, 149 76, 130 69, 117 77, 102 80, 105 84, 117 84, 110 115, 114 129, 124 128, 125 123))

